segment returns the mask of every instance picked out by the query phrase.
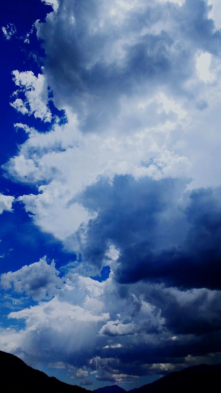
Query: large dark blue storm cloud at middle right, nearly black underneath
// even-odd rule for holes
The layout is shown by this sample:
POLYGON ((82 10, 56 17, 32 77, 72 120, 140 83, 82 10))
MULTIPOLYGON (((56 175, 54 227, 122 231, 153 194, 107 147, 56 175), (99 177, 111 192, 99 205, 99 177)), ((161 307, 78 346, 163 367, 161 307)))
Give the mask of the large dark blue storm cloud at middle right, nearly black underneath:
POLYGON ((77 200, 98 216, 88 224, 83 259, 100 268, 111 243, 120 250, 121 283, 220 289, 221 189, 193 190, 185 208, 183 191, 177 179, 132 176, 88 187, 77 200))

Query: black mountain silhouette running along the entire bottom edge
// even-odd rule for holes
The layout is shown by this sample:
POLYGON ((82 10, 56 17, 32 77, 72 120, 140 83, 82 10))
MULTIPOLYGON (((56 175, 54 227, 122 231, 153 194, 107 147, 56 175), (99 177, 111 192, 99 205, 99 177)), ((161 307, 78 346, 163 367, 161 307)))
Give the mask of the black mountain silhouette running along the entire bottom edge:
MULTIPOLYGON (((16 393, 49 393, 72 392, 91 393, 90 390, 74 386, 48 376, 42 371, 33 369, 15 355, 0 351, 0 382, 2 392, 16 393), (53 390, 52 390, 53 389, 53 390)), ((218 391, 221 378, 221 364, 201 364, 187 367, 182 371, 174 371, 155 382, 131 389, 136 393, 213 393, 218 391)), ((118 385, 99 387, 97 393, 125 393, 118 385)))

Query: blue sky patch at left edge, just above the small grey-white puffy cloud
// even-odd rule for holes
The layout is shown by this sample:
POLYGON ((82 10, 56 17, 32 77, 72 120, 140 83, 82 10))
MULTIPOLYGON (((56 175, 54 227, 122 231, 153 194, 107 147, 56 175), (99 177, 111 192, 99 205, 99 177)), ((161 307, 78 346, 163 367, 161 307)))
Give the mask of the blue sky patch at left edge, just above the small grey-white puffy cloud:
POLYGON ((0 274, 15 271, 39 261, 39 257, 54 259, 56 268, 76 260, 76 254, 66 252, 61 241, 44 233, 33 224, 22 204, 13 205, 13 213, 0 215, 0 274))

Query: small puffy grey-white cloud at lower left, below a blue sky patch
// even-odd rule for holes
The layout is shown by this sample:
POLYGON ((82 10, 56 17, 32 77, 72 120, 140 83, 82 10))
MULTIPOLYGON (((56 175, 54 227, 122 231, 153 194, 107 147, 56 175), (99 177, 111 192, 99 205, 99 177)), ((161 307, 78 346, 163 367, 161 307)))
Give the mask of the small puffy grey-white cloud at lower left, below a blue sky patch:
POLYGON ((26 292, 34 300, 50 299, 62 284, 58 274, 55 263, 48 264, 44 257, 39 262, 23 266, 17 272, 2 274, 1 285, 4 289, 13 286, 15 292, 26 292))

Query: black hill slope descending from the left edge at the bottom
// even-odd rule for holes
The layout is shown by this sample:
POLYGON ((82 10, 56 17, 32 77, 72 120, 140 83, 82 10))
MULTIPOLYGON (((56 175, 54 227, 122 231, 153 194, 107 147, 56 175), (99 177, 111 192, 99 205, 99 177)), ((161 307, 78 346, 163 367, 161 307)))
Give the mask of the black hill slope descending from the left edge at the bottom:
POLYGON ((2 393, 90 392, 83 387, 66 384, 42 371, 35 370, 17 356, 3 351, 0 351, 0 384, 2 393))

